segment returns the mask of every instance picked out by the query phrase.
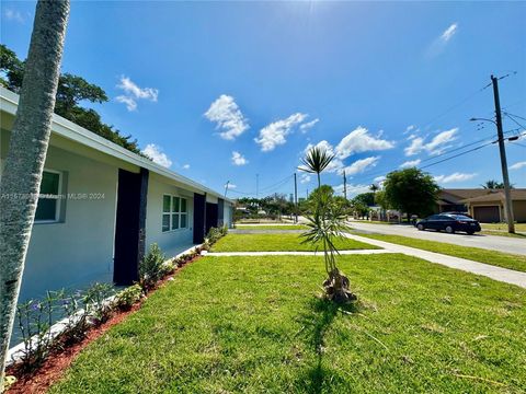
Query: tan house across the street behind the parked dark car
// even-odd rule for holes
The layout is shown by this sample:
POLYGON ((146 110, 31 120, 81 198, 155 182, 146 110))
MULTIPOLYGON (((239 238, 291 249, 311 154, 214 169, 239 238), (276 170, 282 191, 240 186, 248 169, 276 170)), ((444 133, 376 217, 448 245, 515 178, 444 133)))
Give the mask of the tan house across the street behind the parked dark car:
MULTIPOLYGON (((442 189, 436 212, 460 211, 483 223, 503 222, 506 220, 504 200, 502 189, 442 189)), ((512 201, 515 221, 526 221, 526 189, 512 189, 512 201)))

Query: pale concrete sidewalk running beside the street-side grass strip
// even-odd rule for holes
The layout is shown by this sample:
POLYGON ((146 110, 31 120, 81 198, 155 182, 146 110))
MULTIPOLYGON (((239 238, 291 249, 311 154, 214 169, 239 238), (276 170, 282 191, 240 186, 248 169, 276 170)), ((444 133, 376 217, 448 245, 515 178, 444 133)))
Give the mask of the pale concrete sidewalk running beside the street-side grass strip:
POLYGON ((453 257, 453 256, 447 256, 439 253, 422 251, 415 247, 397 245, 389 242, 368 239, 365 236, 353 235, 353 234, 345 234, 345 236, 355 241, 361 241, 375 246, 384 247, 386 252, 403 253, 408 256, 423 258, 430 263, 442 264, 449 268, 461 269, 476 275, 482 275, 494 280, 519 286, 526 289, 526 273, 496 267, 489 264, 472 262, 466 258, 453 257))

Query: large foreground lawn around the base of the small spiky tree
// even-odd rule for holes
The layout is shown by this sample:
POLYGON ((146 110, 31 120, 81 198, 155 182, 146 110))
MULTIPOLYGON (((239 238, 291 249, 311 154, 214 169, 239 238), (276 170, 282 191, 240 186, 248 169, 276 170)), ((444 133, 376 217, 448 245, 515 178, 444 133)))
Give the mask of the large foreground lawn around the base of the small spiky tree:
POLYGON ((50 393, 524 393, 526 291, 403 255, 207 256, 92 343, 50 393))

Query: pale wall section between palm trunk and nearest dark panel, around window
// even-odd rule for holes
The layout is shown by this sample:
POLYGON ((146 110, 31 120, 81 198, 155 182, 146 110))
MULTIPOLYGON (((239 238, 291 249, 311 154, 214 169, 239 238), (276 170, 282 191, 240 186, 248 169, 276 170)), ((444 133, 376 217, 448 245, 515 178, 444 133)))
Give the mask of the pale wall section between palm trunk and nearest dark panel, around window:
MULTIPOLYGON (((2 161, 8 137, 3 131, 2 161)), ((62 174, 70 197, 60 200, 59 222, 33 225, 20 301, 113 279, 117 169, 54 146, 45 169, 62 174)))

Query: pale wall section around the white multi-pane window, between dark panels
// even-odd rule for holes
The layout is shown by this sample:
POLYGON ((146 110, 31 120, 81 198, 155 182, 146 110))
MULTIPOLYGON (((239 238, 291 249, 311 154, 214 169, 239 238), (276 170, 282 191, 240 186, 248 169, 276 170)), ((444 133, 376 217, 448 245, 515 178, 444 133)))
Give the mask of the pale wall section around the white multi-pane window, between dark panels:
POLYGON ((194 223, 194 193, 175 186, 169 179, 150 173, 146 210, 146 248, 157 243, 171 257, 192 246, 194 223), (162 196, 173 195, 186 198, 187 228, 162 232, 162 196))

